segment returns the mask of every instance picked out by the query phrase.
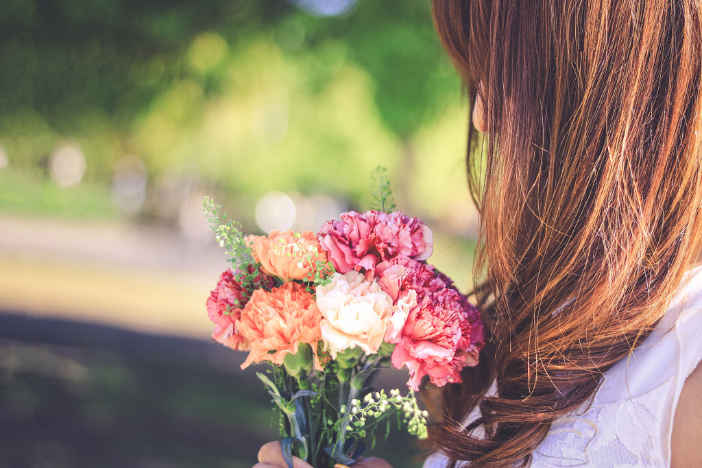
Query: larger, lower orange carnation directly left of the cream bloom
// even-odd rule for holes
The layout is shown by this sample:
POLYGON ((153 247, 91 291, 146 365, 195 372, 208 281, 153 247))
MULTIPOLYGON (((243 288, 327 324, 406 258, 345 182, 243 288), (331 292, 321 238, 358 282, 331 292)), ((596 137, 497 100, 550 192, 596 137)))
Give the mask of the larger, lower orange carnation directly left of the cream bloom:
POLYGON ((300 283, 290 281, 270 291, 253 291, 236 323, 251 345, 241 368, 261 361, 282 364, 286 354, 296 354, 300 343, 307 343, 314 353, 314 367, 322 370, 317 356, 317 342, 322 337, 320 320, 322 314, 314 296, 300 283))

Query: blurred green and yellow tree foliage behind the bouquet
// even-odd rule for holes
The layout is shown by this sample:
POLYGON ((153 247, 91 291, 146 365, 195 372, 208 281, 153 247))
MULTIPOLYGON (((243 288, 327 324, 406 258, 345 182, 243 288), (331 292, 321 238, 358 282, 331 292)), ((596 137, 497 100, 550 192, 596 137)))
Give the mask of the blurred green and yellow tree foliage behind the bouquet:
POLYGON ((150 182, 187 174, 241 203, 310 187, 359 201, 378 163, 416 172, 413 139, 461 104, 428 0, 338 17, 283 0, 4 0, 0 39, 11 167, 69 138, 91 182, 135 155, 150 182))

